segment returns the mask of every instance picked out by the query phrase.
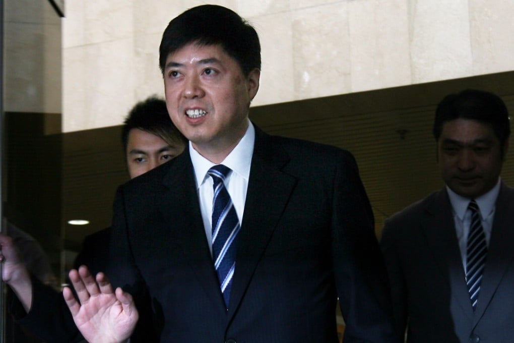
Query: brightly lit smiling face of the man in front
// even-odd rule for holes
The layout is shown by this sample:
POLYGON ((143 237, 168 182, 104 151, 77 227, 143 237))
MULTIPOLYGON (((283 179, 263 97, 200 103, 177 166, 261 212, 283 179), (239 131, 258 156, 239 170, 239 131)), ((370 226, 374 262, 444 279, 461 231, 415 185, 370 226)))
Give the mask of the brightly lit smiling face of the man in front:
POLYGON ((170 117, 195 150, 228 154, 248 128, 260 71, 245 77, 221 46, 190 43, 168 56, 163 77, 170 117))

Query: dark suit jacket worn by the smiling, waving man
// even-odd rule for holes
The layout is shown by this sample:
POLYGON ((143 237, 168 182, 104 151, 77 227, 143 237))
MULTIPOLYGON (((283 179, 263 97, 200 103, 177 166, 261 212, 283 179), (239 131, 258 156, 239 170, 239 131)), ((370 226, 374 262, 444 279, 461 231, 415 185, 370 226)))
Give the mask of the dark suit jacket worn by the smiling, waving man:
POLYGON ((345 343, 398 341, 353 156, 255 129, 228 310, 188 151, 118 189, 107 260, 138 309, 151 309, 136 331, 161 342, 337 342, 339 297, 345 343))

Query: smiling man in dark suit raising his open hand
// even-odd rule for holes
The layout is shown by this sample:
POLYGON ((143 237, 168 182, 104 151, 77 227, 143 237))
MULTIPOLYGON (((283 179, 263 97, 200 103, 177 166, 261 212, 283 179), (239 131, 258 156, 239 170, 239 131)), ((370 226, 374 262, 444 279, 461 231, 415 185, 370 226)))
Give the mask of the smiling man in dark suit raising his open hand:
MULTIPOLYGON (((151 331, 161 342, 337 342, 339 297, 346 343, 398 341, 353 156, 269 136, 248 119, 255 30, 224 7, 192 8, 164 31, 159 63, 189 147, 119 188, 109 246, 150 295, 151 331)), ((113 292, 82 267, 70 279, 79 302, 64 296, 89 341, 130 336, 138 294, 113 292)))

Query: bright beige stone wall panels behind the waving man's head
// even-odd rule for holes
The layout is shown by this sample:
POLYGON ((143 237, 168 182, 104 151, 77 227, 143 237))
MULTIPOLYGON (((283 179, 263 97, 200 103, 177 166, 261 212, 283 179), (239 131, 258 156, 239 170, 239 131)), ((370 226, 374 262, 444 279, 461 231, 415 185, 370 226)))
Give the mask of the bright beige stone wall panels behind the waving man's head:
MULTIPOLYGON (((120 124, 162 95, 158 45, 168 22, 205 1, 68 0, 64 131, 120 124)), ((511 0, 212 1, 248 19, 262 44, 253 105, 514 69, 511 0)))

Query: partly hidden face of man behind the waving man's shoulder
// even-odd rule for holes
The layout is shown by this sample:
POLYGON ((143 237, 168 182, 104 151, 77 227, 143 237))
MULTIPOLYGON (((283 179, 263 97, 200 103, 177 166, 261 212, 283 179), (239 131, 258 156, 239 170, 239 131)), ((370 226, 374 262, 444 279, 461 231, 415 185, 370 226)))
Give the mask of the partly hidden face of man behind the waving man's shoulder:
POLYGON ((149 132, 131 129, 128 132, 126 161, 128 175, 134 178, 170 161, 182 153, 182 143, 170 145, 149 132))

